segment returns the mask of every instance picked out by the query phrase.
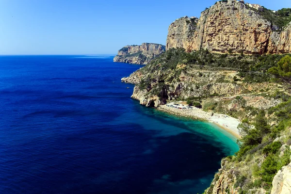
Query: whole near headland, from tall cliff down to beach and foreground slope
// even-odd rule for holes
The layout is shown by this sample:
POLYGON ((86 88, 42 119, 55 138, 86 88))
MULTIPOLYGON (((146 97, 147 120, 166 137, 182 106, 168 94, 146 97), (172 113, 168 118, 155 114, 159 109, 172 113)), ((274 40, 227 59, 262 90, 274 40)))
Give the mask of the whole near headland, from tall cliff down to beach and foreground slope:
POLYGON ((290 194, 290 53, 291 9, 221 0, 174 21, 166 51, 122 81, 147 107, 237 121, 240 151, 222 160, 205 194, 290 194), (166 105, 177 101, 196 108, 166 105))

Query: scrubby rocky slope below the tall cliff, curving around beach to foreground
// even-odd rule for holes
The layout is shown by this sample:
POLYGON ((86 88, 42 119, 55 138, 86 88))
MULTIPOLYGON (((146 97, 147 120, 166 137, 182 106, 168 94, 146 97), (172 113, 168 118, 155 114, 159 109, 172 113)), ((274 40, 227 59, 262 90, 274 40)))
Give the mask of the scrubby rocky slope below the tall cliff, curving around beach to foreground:
MULTIPOLYGON (((185 23, 190 20, 183 19, 185 23)), ((237 156, 223 159, 222 168, 205 194, 270 194, 272 180, 272 194, 288 194, 291 130, 284 126, 291 123, 284 122, 290 122, 290 92, 288 84, 274 82, 263 73, 283 56, 169 49, 122 81, 135 84, 131 97, 148 107, 189 101, 209 113, 223 113, 241 121, 247 118, 251 126, 257 127, 263 126, 256 124, 262 111, 264 125, 272 126, 273 132, 263 133, 258 144, 242 147, 237 156)))

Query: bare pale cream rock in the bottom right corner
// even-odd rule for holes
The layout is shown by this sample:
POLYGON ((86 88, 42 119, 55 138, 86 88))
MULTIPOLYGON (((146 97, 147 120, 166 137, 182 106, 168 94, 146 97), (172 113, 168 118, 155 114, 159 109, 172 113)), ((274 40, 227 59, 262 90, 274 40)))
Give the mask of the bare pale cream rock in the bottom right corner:
POLYGON ((271 194, 291 194, 291 163, 275 175, 271 194))

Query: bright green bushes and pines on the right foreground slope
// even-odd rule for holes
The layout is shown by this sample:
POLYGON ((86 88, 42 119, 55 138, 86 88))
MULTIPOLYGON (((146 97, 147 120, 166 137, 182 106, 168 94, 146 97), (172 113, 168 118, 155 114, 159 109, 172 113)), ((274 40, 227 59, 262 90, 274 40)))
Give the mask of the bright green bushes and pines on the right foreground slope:
MULTIPOLYGON (((283 97, 284 95, 277 93, 275 96, 283 97)), ((257 163, 251 167, 253 178, 257 178, 257 181, 261 182, 261 186, 269 190, 272 186, 272 180, 275 174, 283 166, 290 163, 291 151, 288 147, 283 154, 279 156, 282 143, 279 141, 273 141, 276 137, 280 136, 284 130, 291 126, 291 101, 283 102, 268 110, 268 113, 275 113, 278 124, 271 127, 268 125, 268 118, 265 117, 265 112, 260 111, 256 116, 254 122, 248 119, 244 119, 239 125, 239 130, 242 134, 240 141, 241 149, 236 153, 236 157, 233 159, 237 162, 247 160, 247 156, 251 155, 265 155, 261 166, 257 163)), ((290 138, 290 137, 289 137, 290 138)), ((287 139, 289 139, 287 138, 287 139)), ((286 141, 287 146, 291 145, 291 141, 286 141)))

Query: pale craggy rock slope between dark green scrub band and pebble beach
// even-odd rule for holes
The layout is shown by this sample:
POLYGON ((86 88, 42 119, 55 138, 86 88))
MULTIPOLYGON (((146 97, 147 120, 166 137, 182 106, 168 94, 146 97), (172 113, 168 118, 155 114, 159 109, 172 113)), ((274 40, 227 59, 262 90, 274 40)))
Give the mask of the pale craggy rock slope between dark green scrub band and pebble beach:
MULTIPOLYGON (((151 65, 151 64, 149 64, 151 65)), ((149 67, 150 68, 150 67, 149 67)), ((208 70, 198 68, 187 68, 179 66, 178 69, 172 71, 152 71, 146 72, 139 69, 133 72, 129 77, 122 78, 125 83, 136 84, 133 90, 132 98, 139 100, 140 104, 149 107, 158 107, 166 103, 166 100, 187 99, 188 97, 205 97, 205 96, 225 96, 224 98, 215 98, 216 103, 222 102, 228 106, 220 106, 220 109, 225 107, 225 112, 234 110, 240 111, 242 106, 252 106, 256 108, 269 108, 280 103, 280 100, 274 98, 265 98, 260 96, 243 96, 245 104, 240 104, 236 100, 237 95, 242 95, 246 91, 256 93, 261 88, 276 88, 274 84, 265 83, 243 83, 232 82, 238 74, 237 71, 229 70, 208 70), (177 71, 181 73, 177 79, 177 71), (140 82, 147 78, 156 78, 155 81, 148 82, 146 87, 141 88, 140 82), (158 86, 159 82, 173 79, 171 82, 165 82, 168 86, 158 86), (227 103, 226 103, 227 102, 227 103)), ((209 103, 209 100, 204 100, 203 104, 209 103)), ((247 113, 247 112, 245 112, 247 113)))

